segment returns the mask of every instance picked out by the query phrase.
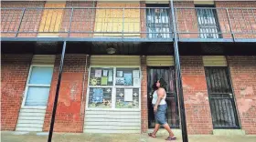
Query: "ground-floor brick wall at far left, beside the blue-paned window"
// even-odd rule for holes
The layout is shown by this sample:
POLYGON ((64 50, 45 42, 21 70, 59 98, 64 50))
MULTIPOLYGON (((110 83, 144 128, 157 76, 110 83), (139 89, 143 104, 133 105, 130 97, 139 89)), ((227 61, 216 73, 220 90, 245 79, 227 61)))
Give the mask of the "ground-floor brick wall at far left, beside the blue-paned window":
POLYGON ((1 130, 15 130, 32 55, 1 55, 1 130))

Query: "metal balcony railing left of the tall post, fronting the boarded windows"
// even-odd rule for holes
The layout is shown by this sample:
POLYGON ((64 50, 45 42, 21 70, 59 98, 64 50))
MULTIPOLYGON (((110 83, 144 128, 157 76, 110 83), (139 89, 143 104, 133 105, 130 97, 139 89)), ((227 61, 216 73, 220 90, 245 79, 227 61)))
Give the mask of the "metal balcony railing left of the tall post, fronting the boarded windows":
POLYGON ((2 36, 168 39, 166 8, 2 8, 2 36))

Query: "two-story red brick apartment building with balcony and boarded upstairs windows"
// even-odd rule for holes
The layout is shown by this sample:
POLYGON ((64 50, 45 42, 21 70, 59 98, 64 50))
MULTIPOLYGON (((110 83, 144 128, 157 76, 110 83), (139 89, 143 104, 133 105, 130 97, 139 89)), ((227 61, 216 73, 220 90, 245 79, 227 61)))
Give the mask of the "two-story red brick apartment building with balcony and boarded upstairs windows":
POLYGON ((256 134, 256 1, 2 1, 1 40, 1 130, 47 132, 61 70, 56 132, 146 132, 163 77, 171 127, 182 89, 188 134, 256 134))

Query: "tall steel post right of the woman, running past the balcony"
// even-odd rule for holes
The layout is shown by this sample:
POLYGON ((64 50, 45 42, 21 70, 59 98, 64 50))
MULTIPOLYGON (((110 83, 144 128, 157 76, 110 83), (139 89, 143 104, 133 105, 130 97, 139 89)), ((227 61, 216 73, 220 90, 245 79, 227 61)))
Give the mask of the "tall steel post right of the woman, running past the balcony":
POLYGON ((180 110, 180 119, 181 119, 181 131, 182 131, 182 139, 183 142, 188 142, 187 139, 187 122, 186 122, 186 114, 184 107, 184 97, 183 97, 183 87, 182 87, 182 77, 180 70, 180 62, 179 62, 179 53, 178 53, 178 44, 177 44, 177 35, 176 35, 176 22, 175 22, 175 10, 174 10, 174 1, 170 0, 170 8, 173 19, 173 32, 174 32, 174 50, 175 50, 175 62, 176 62, 176 87, 177 87, 177 95, 179 98, 179 110, 180 110))

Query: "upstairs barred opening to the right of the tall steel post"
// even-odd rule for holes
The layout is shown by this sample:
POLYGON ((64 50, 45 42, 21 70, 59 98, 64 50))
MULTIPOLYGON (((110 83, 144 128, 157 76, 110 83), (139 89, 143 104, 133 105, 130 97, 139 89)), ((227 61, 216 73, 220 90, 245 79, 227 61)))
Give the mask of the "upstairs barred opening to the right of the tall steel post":
POLYGON ((221 38, 216 9, 197 6, 197 24, 200 38, 221 38))

